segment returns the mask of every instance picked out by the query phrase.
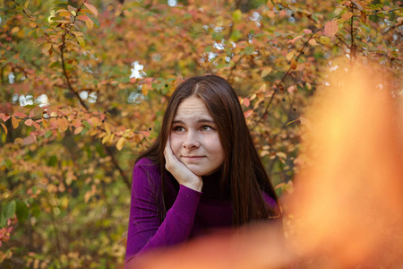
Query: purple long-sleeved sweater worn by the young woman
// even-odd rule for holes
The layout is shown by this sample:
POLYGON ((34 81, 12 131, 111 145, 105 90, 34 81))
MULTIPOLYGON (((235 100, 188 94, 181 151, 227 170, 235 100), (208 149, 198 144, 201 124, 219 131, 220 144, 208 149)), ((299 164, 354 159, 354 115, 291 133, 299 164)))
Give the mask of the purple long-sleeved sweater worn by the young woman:
MULTIPOLYGON (((167 247, 232 225, 232 206, 219 191, 219 172, 202 177, 202 192, 182 185, 165 175, 167 215, 161 221, 162 208, 159 167, 146 158, 133 169, 132 202, 125 265, 133 256, 158 247, 167 247)), ((276 202, 270 195, 263 198, 271 207, 276 202)))

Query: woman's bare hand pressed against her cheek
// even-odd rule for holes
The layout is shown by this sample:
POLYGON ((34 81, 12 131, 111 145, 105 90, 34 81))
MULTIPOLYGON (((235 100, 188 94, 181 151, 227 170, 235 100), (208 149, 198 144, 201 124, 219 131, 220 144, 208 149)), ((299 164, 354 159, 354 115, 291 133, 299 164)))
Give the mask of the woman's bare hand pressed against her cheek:
POLYGON ((164 150, 165 168, 174 176, 179 184, 185 187, 192 188, 195 191, 201 192, 203 182, 201 177, 196 176, 190 169, 188 169, 182 162, 177 160, 174 152, 171 149, 169 137, 164 150))

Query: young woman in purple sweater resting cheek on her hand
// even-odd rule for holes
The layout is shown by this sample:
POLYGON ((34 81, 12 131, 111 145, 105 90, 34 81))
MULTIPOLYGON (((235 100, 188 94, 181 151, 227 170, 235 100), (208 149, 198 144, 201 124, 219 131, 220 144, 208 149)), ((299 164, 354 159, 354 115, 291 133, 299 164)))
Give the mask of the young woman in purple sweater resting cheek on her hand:
POLYGON ((126 265, 150 249, 268 219, 281 223, 277 196, 236 92, 216 75, 185 80, 133 169, 126 265))

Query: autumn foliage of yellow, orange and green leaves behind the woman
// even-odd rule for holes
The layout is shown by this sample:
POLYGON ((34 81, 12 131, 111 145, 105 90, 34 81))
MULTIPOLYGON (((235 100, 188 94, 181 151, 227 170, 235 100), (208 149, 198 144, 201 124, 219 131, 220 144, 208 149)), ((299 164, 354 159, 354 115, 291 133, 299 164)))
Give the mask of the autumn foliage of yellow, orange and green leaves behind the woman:
POLYGON ((0 262, 122 265, 133 161, 193 75, 232 83, 276 191, 292 193, 301 115, 338 57, 381 64, 402 100, 401 4, 0 3, 0 262))

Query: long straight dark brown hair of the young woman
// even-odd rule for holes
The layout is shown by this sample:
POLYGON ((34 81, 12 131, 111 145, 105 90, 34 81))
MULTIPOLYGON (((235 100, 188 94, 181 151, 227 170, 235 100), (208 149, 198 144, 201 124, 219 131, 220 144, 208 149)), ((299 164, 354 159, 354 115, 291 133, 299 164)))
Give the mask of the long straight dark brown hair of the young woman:
MULTIPOLYGON (((278 202, 274 188, 254 148, 236 92, 225 79, 217 75, 189 78, 177 86, 168 101, 159 136, 149 150, 141 153, 137 161, 146 157, 159 165, 162 186, 165 186, 164 148, 176 115, 176 108, 184 99, 191 96, 200 98, 206 104, 218 127, 219 139, 225 152, 220 184, 230 189, 233 225, 240 226, 250 221, 279 217, 279 209, 268 207, 262 197, 264 191, 278 202)), ((164 188, 162 195, 163 197, 165 195, 164 188)), ((167 212, 165 208, 163 211, 167 212)))

